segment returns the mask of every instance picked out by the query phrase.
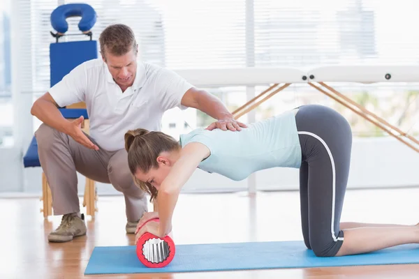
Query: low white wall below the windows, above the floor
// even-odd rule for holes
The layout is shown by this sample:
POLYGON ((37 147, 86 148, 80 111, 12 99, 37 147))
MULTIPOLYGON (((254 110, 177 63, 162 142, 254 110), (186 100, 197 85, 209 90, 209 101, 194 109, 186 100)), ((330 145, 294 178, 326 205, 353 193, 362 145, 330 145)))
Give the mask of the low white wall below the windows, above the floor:
MULTIPOLYGON (((21 189, 24 193, 41 195, 41 168, 24 169, 24 185, 19 183, 21 158, 17 152, 2 152, 0 158, 0 192, 21 189)), ((417 175, 419 154, 392 137, 355 138, 348 188, 419 186, 417 175)), ((84 178, 79 176, 79 193, 84 178)), ((256 173, 257 190, 297 190, 298 169, 274 168, 256 173)), ((230 181, 219 174, 197 169, 186 183, 185 192, 247 190, 247 180, 230 181)), ((117 193, 111 185, 98 183, 99 195, 117 193)), ((4 194, 3 194, 4 195, 4 194)))

